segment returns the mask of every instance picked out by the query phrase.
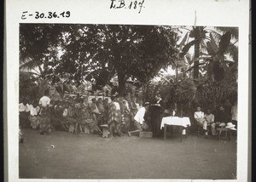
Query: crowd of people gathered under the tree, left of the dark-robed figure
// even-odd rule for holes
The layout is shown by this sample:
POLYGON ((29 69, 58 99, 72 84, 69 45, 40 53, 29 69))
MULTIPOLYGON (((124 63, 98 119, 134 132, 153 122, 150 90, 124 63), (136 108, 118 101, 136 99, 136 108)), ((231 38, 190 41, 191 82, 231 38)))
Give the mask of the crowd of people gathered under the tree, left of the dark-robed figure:
POLYGON ((39 134, 50 134, 55 130, 74 134, 102 134, 101 126, 107 125, 110 137, 130 135, 130 131, 147 128, 142 119, 146 110, 141 100, 135 96, 117 95, 109 99, 94 97, 88 100, 88 96, 79 96, 76 99, 51 100, 49 93, 45 92, 40 100, 22 100, 19 104, 20 128, 37 129, 39 134), (138 111, 140 115, 136 117, 138 111))

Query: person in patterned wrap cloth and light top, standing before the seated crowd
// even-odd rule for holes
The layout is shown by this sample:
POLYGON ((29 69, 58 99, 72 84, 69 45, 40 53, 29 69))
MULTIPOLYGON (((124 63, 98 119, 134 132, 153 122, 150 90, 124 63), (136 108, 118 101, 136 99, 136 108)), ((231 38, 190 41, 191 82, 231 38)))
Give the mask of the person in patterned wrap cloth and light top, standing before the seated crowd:
POLYGON ((121 136, 122 134, 120 131, 120 124, 122 122, 122 119, 120 105, 116 97, 112 97, 111 100, 112 103, 110 104, 108 112, 108 128, 110 137, 113 137, 114 133, 117 133, 119 136, 121 136))

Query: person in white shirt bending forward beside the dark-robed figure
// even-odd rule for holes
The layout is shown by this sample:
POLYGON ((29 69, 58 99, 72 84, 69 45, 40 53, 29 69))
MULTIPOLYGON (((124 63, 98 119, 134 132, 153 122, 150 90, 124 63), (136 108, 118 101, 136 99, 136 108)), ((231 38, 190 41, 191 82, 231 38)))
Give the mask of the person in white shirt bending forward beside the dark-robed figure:
POLYGON ((147 124, 145 123, 145 114, 146 114, 146 111, 148 111, 148 107, 149 107, 149 103, 146 102, 144 106, 137 111, 134 117, 134 120, 135 120, 134 124, 136 126, 136 130, 128 132, 129 136, 131 136, 131 134, 133 133, 139 133, 143 131, 143 129, 148 128, 147 124))

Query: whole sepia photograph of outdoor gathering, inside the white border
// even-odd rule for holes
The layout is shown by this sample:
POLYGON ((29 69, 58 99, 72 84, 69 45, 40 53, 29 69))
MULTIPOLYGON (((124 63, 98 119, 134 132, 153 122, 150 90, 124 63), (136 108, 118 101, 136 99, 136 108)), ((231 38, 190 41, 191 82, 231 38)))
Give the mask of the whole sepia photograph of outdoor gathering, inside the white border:
POLYGON ((237 78, 236 27, 20 24, 20 179, 236 179, 237 78))

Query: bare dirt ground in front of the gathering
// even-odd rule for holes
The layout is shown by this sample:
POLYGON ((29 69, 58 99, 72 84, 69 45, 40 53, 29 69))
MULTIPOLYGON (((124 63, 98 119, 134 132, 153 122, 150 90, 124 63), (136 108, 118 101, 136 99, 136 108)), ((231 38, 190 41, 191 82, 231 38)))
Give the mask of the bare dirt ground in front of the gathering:
POLYGON ((23 129, 21 179, 236 179, 236 137, 166 140, 23 129))

